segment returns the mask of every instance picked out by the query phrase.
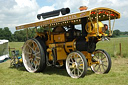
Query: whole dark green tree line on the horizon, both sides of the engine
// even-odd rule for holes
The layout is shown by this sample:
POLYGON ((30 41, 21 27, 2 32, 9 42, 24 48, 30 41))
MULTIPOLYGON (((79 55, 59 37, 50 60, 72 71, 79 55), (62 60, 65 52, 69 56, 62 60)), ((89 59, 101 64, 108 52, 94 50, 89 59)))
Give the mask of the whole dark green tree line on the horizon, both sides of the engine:
MULTIPOLYGON (((38 28, 37 31, 42 32, 43 29, 38 28)), ((0 39, 7 39, 10 42, 24 42, 27 40, 27 32, 28 38, 33 38, 36 35, 35 28, 15 31, 13 34, 8 27, 0 28, 0 39)), ((128 31, 121 32, 120 30, 114 30, 112 37, 119 37, 120 35, 128 35, 128 31)))

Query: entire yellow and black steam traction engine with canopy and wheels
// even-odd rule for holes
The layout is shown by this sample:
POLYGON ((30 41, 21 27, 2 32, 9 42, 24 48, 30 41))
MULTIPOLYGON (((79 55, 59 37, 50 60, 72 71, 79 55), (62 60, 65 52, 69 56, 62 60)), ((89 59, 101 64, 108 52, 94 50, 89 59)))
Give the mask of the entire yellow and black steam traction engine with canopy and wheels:
POLYGON ((46 66, 66 65, 67 73, 72 78, 79 78, 85 76, 88 67, 97 74, 110 71, 111 58, 106 51, 96 50, 96 43, 112 35, 115 19, 120 18, 120 13, 109 8, 67 14, 69 12, 69 8, 63 8, 38 14, 37 18, 44 20, 16 27, 17 30, 44 29, 24 43, 22 58, 28 72, 40 72, 46 66), (62 15, 58 16, 60 13, 62 15), (101 22, 106 20, 109 25, 101 22), (81 29, 76 29, 76 25, 81 25, 81 29), (109 34, 106 34, 107 30, 109 34))

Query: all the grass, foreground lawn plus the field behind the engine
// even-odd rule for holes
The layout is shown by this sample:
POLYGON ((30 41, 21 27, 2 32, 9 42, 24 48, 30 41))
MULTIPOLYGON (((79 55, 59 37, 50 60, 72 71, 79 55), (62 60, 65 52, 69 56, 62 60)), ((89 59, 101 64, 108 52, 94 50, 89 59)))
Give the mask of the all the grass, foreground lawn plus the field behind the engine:
MULTIPOLYGON (((22 42, 11 42, 10 47, 21 49, 22 42)), ((112 57, 112 68, 108 74, 94 74, 88 69, 84 78, 72 79, 66 69, 47 67, 41 73, 29 73, 25 68, 10 68, 10 61, 0 64, 1 85, 128 85, 128 37, 113 38, 99 42, 97 49, 105 49, 112 57), (119 55, 119 43, 122 55, 119 55), (126 57, 126 58, 124 58, 126 57)))

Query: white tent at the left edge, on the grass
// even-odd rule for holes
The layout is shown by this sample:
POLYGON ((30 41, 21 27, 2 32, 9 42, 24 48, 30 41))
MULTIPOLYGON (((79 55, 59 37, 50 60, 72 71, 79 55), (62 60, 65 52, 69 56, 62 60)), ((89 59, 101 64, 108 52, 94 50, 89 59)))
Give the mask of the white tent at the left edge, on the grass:
POLYGON ((0 40, 0 62, 9 58, 8 40, 0 40))

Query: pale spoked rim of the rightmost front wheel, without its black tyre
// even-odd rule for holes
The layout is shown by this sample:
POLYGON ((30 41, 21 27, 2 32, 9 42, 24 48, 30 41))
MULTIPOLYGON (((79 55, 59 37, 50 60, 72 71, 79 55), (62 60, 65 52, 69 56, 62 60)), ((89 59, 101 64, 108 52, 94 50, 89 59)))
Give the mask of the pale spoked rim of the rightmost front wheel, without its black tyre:
POLYGON ((92 70, 96 74, 105 73, 109 66, 107 55, 102 51, 96 51, 94 54, 93 60, 98 61, 98 64, 93 64, 91 66, 92 70))

